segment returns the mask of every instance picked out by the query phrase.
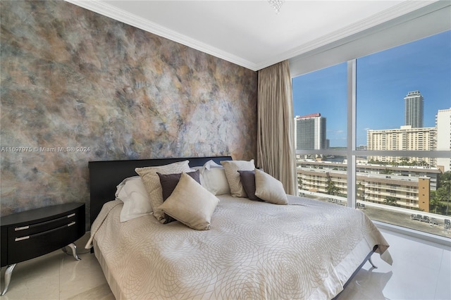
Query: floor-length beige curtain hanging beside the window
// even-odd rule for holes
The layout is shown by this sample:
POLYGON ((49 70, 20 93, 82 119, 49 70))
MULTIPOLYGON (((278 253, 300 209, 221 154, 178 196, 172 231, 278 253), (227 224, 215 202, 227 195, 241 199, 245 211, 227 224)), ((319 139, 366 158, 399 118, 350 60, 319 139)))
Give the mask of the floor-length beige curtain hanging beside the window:
POLYGON ((257 165, 297 195, 295 123, 288 61, 259 70, 257 165))

